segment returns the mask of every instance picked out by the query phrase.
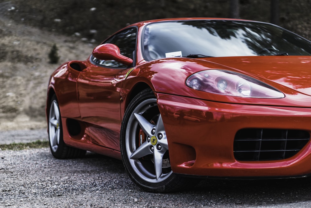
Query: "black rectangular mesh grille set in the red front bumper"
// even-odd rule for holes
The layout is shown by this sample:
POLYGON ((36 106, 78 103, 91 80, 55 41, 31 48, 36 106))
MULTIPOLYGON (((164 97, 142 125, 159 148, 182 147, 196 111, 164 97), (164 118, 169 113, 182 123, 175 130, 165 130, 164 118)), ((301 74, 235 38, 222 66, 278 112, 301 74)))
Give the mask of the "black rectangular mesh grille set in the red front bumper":
POLYGON ((234 137, 234 157, 239 161, 282 160, 294 156, 309 141, 302 130, 241 129, 234 137))

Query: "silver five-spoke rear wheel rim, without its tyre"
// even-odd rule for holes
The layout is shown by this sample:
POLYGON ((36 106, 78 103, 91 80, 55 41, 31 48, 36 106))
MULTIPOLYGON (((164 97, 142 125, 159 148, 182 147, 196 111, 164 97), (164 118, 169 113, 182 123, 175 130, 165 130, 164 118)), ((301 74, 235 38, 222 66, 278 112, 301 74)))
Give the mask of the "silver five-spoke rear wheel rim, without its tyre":
POLYGON ((49 113, 49 141, 53 152, 57 151, 60 139, 60 116, 59 108, 56 100, 53 100, 49 113))

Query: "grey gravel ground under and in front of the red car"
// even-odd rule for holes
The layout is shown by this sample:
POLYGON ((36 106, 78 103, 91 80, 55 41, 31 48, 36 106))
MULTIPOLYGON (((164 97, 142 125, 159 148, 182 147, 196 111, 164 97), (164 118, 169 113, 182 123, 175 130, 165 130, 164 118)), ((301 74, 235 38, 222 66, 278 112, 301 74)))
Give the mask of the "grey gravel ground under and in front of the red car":
POLYGON ((0 151, 0 207, 310 207, 311 178, 203 180, 193 190, 148 193, 121 161, 87 152, 58 160, 48 148, 0 151))

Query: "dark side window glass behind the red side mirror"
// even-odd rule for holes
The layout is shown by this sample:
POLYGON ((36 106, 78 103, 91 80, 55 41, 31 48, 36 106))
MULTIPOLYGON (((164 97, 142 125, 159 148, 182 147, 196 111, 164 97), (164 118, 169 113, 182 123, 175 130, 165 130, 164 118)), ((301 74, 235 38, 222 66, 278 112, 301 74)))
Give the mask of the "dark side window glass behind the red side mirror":
MULTIPOLYGON (((132 27, 115 34, 104 43, 112 43, 118 46, 123 56, 129 57, 134 60, 135 57, 133 57, 133 52, 136 50, 136 37, 137 28, 132 27)), ((91 62, 93 64, 103 67, 127 68, 126 65, 121 64, 115 60, 100 60, 96 59, 94 56, 91 56, 91 62)))

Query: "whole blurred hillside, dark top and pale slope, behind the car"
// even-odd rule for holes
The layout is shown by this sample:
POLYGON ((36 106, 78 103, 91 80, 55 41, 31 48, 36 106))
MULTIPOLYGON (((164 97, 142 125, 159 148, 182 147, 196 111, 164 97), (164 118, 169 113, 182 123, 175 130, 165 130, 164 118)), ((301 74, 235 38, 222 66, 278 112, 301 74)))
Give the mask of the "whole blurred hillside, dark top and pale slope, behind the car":
POLYGON ((128 24, 232 15, 270 22, 272 1, 278 25, 311 39, 311 0, 0 0, 0 131, 46 128, 49 75, 128 24), (50 64, 54 44, 59 61, 50 64))

